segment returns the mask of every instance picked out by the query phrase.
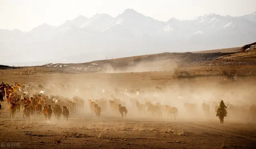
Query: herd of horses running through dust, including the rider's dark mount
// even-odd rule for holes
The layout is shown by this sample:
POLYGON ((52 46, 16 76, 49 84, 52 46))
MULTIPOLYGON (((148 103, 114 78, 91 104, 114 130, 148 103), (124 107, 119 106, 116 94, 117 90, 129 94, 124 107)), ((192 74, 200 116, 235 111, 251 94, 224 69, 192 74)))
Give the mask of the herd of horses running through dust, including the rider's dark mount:
MULTIPOLYGON (((45 120, 51 120, 52 113, 55 115, 55 119, 60 121, 60 116, 63 115, 65 120, 68 120, 70 114, 76 114, 76 112, 83 112, 85 110, 85 100, 80 98, 79 96, 73 96, 72 98, 65 98, 64 96, 59 96, 56 94, 52 94, 49 90, 63 90, 64 87, 55 86, 55 88, 51 87, 50 89, 44 88, 41 85, 38 87, 28 85, 21 86, 18 83, 15 83, 15 87, 10 86, 8 84, 3 85, 1 88, 0 100, 3 102, 3 99, 6 99, 9 105, 10 116, 14 117, 15 114, 20 114, 23 108, 23 118, 30 120, 30 116, 44 115, 45 120), (46 91, 47 90, 47 91, 46 91)), ((157 88, 160 90, 159 88, 157 88)), ((104 90, 104 93, 105 90, 104 90)), ((116 96, 120 95, 120 91, 115 90, 116 96)), ((135 92, 136 93, 136 92, 135 92)), ((126 94, 128 94, 126 92, 126 94)), ((137 91, 138 95, 138 91, 137 91)), ((124 95, 122 95, 124 96, 124 95)), ((113 94, 109 97, 111 99, 107 99, 105 97, 92 100, 88 99, 88 108, 90 112, 96 115, 96 118, 100 118, 101 112, 111 111, 113 114, 120 114, 122 118, 126 118, 128 114, 127 106, 129 108, 137 108, 138 114, 145 114, 149 117, 158 117, 162 118, 163 113, 167 115, 167 119, 169 116, 173 117, 175 120, 178 116, 178 108, 170 105, 164 105, 160 102, 153 102, 144 98, 144 100, 139 100, 138 98, 130 98, 130 102, 127 100, 120 100, 116 98, 113 94)), ((212 107, 210 107, 207 103, 202 103, 202 108, 198 108, 197 104, 184 103, 184 109, 187 113, 193 114, 198 109, 202 109, 206 116, 210 115, 210 111, 216 112, 218 109, 218 102, 213 102, 212 107), (214 110, 212 109, 214 108, 214 110)), ((229 108, 231 111, 236 111, 240 109, 240 107, 236 107, 230 105, 229 108)), ((253 117, 256 114, 256 106, 250 106, 250 113, 253 117)), ((0 104, 1 110, 1 104, 0 104)), ((134 112, 134 111, 133 111, 134 112)), ((0 113, 1 114, 1 113, 0 113)), ((220 124, 224 123, 225 112, 220 110, 218 112, 218 118, 220 120, 220 124)))

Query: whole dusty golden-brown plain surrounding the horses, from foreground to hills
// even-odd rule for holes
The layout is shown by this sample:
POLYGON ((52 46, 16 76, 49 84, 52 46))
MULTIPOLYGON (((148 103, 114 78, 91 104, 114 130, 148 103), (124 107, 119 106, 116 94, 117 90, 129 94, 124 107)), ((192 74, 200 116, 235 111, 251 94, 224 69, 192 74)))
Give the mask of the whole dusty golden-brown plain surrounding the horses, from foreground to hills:
MULTIPOLYGON (((255 104, 256 77, 253 74, 255 66, 231 67, 190 67, 177 68, 176 71, 187 71, 194 74, 193 78, 175 78, 174 68, 150 72, 144 67, 136 67, 124 72, 115 73, 76 73, 59 72, 57 69, 13 69, 0 70, 1 81, 14 85, 19 82, 24 85, 41 84, 48 88, 54 83, 71 86, 96 86, 96 92, 86 91, 56 91, 54 94, 72 98, 74 95, 84 99, 84 109, 78 109, 76 114, 70 114, 68 121, 61 116, 56 121, 44 121, 44 116, 36 116, 26 120, 22 114, 10 117, 6 100, 2 103, 0 115, 0 143, 14 145, 20 148, 255 148, 256 126, 249 109, 255 104), (232 81, 223 74, 235 70, 240 76, 232 81), (132 72, 132 73, 131 73, 132 72), (246 75, 246 76, 242 76, 246 75), (155 94, 156 86, 162 92, 155 94), (106 90, 102 94, 102 89, 106 90), (107 108, 101 117, 96 118, 90 112, 88 99, 96 100, 102 97, 110 99, 115 88, 145 91, 144 96, 118 96, 126 103, 127 118, 121 118, 120 113, 114 113, 107 108), (147 98, 156 102, 178 108, 176 120, 167 119, 165 110, 162 116, 152 117, 138 113, 137 107, 130 103, 130 98, 139 98, 142 102, 147 98), (224 100, 228 108, 228 116, 220 125, 215 116, 213 102, 224 100), (210 114, 205 115, 202 103, 209 104, 210 114), (187 112, 184 103, 196 104, 196 111, 187 112), (9 144, 10 143, 10 144, 9 144)), ((168 66, 169 67, 169 66, 168 66)), ((216 106, 216 105, 214 105, 216 106)))

